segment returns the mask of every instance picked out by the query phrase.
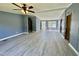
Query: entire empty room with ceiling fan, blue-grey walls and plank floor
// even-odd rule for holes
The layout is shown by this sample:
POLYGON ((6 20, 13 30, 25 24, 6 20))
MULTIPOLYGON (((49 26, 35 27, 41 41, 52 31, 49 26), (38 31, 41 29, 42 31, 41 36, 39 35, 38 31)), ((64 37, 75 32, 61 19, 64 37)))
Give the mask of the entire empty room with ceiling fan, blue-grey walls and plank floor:
POLYGON ((79 56, 79 3, 0 3, 0 56, 79 56))

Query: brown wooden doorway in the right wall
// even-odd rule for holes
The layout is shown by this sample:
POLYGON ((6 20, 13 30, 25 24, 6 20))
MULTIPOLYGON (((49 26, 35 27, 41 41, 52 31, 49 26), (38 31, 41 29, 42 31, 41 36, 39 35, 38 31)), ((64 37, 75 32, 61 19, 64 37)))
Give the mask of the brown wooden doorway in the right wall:
POLYGON ((65 39, 70 41, 71 14, 66 16, 65 39))

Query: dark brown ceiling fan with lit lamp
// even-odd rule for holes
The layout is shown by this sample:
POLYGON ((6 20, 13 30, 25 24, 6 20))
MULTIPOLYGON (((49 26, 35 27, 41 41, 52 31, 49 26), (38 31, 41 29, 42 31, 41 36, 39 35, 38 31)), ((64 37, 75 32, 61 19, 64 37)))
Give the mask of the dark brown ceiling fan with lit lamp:
POLYGON ((21 10, 24 12, 24 14, 27 14, 28 12, 35 13, 34 11, 30 10, 33 9, 33 6, 27 6, 26 4, 21 4, 22 6, 17 5, 16 3, 12 3, 13 5, 19 7, 20 9, 13 9, 13 10, 21 10))

